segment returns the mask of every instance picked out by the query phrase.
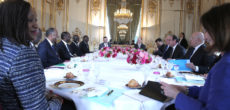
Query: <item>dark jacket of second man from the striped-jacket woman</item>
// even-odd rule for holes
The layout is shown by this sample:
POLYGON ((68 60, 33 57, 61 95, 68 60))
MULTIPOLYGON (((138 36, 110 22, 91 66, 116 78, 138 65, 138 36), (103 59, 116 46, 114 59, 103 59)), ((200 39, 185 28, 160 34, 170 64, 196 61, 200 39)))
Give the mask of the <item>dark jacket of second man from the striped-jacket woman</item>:
MULTIPOLYGON (((68 44, 67 44, 68 46, 68 44)), ((70 51, 70 48, 69 48, 69 51, 67 50, 64 42, 60 41, 58 44, 57 44, 57 50, 58 50, 58 54, 61 58, 61 60, 64 62, 65 60, 70 60, 71 58, 71 55, 69 52, 70 51)), ((71 53, 72 54, 72 53, 71 53)))

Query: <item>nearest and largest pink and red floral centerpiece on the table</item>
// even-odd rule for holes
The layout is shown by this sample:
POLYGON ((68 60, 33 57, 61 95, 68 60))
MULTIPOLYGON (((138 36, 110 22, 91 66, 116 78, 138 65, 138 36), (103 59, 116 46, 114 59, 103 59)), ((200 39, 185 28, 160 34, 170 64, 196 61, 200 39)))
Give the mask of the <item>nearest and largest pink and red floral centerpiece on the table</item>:
POLYGON ((152 61, 151 56, 144 50, 132 49, 128 54, 127 62, 130 64, 148 64, 152 61))

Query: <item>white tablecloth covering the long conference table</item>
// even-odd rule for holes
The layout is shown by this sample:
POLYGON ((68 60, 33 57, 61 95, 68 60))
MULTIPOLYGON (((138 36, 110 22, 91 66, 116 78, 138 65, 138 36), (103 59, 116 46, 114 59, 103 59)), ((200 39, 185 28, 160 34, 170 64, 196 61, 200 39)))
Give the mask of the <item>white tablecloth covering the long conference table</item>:
MULTIPOLYGON (((164 103, 157 100, 150 99, 148 97, 139 94, 140 90, 130 89, 125 86, 131 79, 137 80, 140 84, 144 82, 143 71, 138 70, 134 65, 130 65, 126 62, 126 59, 111 59, 110 61, 99 60, 94 61, 93 65, 97 69, 100 69, 98 81, 103 81, 103 84, 95 84, 95 76, 93 71, 89 73, 87 78, 83 75, 82 69, 90 68, 89 62, 77 62, 77 68, 72 70, 72 73, 77 75, 76 80, 83 81, 85 85, 75 89, 57 89, 53 88, 53 84, 57 81, 65 80, 63 77, 67 73, 66 69, 50 68, 45 70, 45 76, 47 80, 47 89, 52 90, 54 93, 71 99, 74 101, 78 110, 160 110, 164 103), (87 66, 88 67, 85 67, 87 66), (81 68, 80 68, 81 67, 81 68), (78 71, 78 72, 76 72, 78 71), (80 73, 79 73, 80 72, 80 73), (81 98, 72 93, 73 90, 103 86, 109 89, 116 88, 124 90, 123 95, 118 97, 111 106, 105 106, 98 102, 89 100, 88 98, 81 98)), ((149 70, 149 73, 153 73, 154 69, 149 70)), ((149 74, 148 80, 158 80, 161 77, 159 75, 149 74)), ((174 79, 160 79, 167 80, 169 83, 175 83, 174 79)))

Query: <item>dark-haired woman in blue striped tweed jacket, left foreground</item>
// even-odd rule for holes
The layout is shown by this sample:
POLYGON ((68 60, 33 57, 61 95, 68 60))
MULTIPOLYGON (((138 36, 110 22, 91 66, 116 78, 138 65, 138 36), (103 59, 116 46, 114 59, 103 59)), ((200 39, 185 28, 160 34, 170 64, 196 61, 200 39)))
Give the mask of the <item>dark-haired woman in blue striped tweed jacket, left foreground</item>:
POLYGON ((40 58, 30 47, 37 15, 24 0, 0 4, 0 104, 3 110, 60 110, 62 98, 46 99, 40 58))

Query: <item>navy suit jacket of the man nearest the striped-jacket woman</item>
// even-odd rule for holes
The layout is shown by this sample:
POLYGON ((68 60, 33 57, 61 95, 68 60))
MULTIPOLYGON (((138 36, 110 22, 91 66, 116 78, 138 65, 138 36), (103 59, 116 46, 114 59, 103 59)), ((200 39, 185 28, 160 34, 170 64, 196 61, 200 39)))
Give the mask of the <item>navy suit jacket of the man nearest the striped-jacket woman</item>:
POLYGON ((52 48, 47 39, 45 39, 38 45, 38 55, 41 58, 44 68, 62 62, 55 47, 52 48))

